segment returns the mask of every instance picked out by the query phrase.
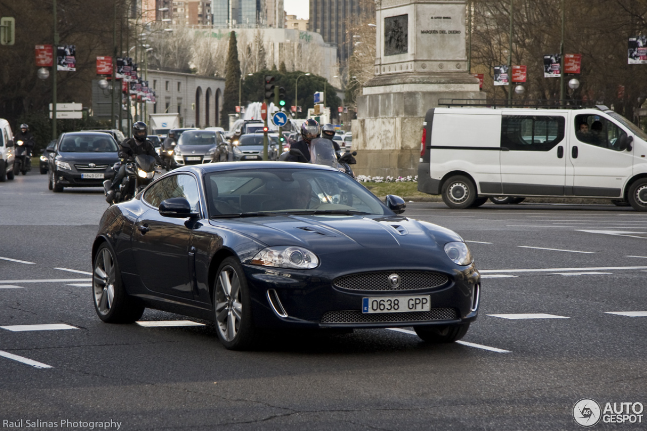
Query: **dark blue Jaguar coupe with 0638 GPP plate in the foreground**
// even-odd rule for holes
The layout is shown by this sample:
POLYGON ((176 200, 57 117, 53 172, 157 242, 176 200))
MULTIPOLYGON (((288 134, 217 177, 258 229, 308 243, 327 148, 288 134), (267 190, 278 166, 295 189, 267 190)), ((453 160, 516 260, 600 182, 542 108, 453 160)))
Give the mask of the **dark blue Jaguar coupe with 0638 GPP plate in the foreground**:
POLYGON ((404 207, 325 166, 179 168, 104 213, 94 306, 104 322, 145 307, 213 320, 228 349, 289 327, 413 327, 453 342, 476 319, 479 274, 460 236, 404 207))

